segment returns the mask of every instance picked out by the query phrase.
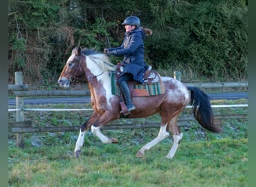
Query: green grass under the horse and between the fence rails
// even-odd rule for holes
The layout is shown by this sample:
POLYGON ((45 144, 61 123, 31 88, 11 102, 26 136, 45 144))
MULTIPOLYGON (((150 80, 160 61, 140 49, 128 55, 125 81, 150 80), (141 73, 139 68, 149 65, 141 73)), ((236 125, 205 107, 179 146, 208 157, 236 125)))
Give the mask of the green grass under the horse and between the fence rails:
MULTIPOLYGON (((225 103, 234 104, 234 101, 213 101, 213 104, 225 103)), ((70 108, 70 105, 61 107, 70 108)), ((247 108, 214 110, 215 113, 248 112, 247 108)), ((12 117, 10 114, 9 118, 12 117)), ((60 123, 69 126, 82 123, 85 115, 29 112, 26 118, 36 126, 60 123)), ((25 134, 24 149, 16 147, 15 135, 10 134, 9 186, 247 186, 247 120, 223 120, 222 126, 221 134, 204 131, 196 122, 190 128, 180 128, 183 140, 171 160, 163 158, 171 148, 171 138, 148 150, 144 158, 135 158, 142 145, 156 137, 158 129, 103 131, 118 138, 119 144, 102 144, 87 132, 79 159, 73 159, 78 132, 25 134)))

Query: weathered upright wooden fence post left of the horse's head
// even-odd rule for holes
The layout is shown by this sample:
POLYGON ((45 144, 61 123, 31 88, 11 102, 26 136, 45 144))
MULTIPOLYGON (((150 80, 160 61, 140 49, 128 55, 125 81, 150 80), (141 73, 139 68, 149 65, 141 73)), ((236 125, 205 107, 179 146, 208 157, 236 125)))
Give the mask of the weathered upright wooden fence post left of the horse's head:
MULTIPOLYGON (((23 85, 23 77, 22 72, 15 72, 15 85, 23 85)), ((20 109, 16 111, 16 121, 24 121, 24 100, 22 96, 16 96, 16 109, 20 109)), ((24 135, 22 133, 16 134, 16 146, 24 147, 24 135)))

